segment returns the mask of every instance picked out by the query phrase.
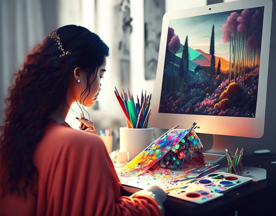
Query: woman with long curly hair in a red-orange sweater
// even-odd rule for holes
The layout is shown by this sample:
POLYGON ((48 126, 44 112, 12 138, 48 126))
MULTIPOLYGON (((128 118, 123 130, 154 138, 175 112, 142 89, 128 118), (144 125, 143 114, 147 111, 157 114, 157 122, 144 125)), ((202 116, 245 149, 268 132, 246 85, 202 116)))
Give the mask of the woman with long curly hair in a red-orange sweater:
POLYGON ((86 131, 65 122, 74 101, 96 101, 108 53, 98 35, 66 25, 26 56, 5 99, 1 216, 163 214, 166 194, 159 187, 120 195, 120 180, 92 122, 86 131))

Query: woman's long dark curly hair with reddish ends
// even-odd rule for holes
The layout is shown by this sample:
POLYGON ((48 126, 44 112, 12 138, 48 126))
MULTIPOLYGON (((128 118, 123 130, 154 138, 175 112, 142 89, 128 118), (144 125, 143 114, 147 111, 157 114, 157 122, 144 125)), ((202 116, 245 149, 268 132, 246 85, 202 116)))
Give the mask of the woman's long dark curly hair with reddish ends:
POLYGON ((62 51, 57 41, 48 36, 35 44, 26 55, 22 69, 13 74, 15 84, 10 85, 9 94, 4 98, 7 107, 2 111, 4 118, 0 126, 0 156, 5 167, 2 197, 7 190, 12 193, 17 189, 18 197, 22 190, 26 200, 25 188, 29 180, 33 188, 33 174, 37 173, 32 161, 34 149, 43 137, 49 115, 67 102, 71 73, 76 67, 86 71, 86 89, 80 95, 82 101, 87 88, 88 94, 90 92, 90 77, 97 73, 104 56, 109 55, 109 48, 100 37, 82 26, 65 25, 57 29, 57 34, 65 52, 71 53, 59 57, 62 51), (17 184, 21 178, 26 184, 20 190, 17 184))

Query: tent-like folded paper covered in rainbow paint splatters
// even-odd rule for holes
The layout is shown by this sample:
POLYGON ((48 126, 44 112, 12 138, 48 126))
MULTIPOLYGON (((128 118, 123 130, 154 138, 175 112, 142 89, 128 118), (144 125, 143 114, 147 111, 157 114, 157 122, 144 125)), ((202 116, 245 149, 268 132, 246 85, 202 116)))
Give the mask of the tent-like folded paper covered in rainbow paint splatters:
POLYGON ((193 130, 195 125, 196 123, 185 130, 168 130, 130 161, 127 166, 120 171, 120 176, 139 176, 157 162, 160 167, 170 170, 183 168, 183 164, 185 166, 190 165, 194 167, 205 165, 201 152, 202 144, 193 130))

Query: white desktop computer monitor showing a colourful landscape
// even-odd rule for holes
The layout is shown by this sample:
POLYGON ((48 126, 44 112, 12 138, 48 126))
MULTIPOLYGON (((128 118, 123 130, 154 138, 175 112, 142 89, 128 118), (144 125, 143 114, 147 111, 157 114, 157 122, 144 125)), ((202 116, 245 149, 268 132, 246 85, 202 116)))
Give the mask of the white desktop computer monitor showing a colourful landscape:
POLYGON ((149 126, 262 137, 271 14, 271 0, 165 13, 149 126))

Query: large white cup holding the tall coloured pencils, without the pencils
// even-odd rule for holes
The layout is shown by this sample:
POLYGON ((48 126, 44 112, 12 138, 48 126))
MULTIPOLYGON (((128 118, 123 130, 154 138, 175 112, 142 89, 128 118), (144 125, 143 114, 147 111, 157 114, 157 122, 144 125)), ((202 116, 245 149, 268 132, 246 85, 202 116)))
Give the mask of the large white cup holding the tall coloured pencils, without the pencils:
POLYGON ((129 160, 135 158, 153 142, 153 128, 120 127, 120 151, 129 153, 129 160))

